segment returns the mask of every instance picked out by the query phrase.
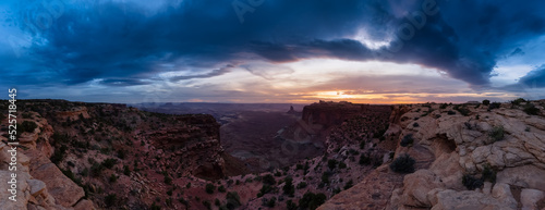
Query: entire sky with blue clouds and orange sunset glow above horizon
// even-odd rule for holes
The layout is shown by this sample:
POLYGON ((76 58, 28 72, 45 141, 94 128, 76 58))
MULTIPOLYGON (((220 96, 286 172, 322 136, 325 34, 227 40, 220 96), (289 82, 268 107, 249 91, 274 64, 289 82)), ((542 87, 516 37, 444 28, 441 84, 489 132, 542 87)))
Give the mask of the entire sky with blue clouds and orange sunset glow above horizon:
POLYGON ((23 99, 536 100, 543 54, 538 0, 0 2, 0 89, 23 99))

